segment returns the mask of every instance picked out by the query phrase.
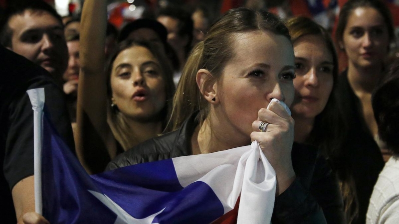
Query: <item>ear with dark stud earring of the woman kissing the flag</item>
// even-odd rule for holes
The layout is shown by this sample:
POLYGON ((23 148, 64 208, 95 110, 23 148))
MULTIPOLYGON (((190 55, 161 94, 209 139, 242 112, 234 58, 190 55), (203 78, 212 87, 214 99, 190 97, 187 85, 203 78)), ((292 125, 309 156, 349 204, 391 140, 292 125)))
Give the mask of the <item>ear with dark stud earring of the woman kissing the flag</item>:
POLYGON ((216 80, 213 83, 207 83, 209 79, 213 79, 210 72, 206 69, 200 69, 197 72, 197 85, 205 100, 211 104, 219 102, 217 97, 217 84, 216 80), (207 84, 207 85, 205 85, 207 84))

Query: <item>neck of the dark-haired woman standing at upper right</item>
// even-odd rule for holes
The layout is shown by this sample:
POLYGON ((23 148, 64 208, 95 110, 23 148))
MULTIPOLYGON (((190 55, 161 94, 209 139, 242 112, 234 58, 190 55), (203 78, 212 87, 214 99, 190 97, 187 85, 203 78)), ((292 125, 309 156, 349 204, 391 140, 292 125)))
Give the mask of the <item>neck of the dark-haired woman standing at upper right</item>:
POLYGON ((360 67, 352 63, 348 66, 348 81, 355 93, 372 93, 381 79, 383 66, 360 67))

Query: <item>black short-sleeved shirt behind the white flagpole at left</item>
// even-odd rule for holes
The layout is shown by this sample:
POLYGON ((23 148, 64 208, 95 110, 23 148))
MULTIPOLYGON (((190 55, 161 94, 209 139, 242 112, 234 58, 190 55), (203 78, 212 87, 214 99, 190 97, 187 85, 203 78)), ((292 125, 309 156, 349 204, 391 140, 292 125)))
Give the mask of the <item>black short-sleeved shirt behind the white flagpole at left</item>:
POLYGON ((33 175, 33 111, 26 90, 44 88, 45 111, 74 151, 64 94, 46 70, 0 45, 0 223, 16 223, 11 189, 33 175))

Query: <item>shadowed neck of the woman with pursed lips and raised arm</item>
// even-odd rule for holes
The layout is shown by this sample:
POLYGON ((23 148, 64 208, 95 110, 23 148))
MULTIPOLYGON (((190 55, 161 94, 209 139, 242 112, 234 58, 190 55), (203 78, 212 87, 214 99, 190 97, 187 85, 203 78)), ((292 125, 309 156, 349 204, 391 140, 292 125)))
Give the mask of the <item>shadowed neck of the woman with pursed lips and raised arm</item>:
POLYGON ((163 131, 161 120, 141 122, 127 118, 126 122, 138 142, 156 137, 163 131))

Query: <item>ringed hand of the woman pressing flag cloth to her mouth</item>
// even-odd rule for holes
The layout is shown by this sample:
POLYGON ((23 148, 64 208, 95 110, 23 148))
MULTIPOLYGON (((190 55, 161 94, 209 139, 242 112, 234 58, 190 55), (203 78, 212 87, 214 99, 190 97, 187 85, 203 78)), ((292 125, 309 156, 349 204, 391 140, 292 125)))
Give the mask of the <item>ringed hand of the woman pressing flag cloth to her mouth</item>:
POLYGON ((291 149, 294 142, 294 119, 278 103, 272 102, 269 109, 260 109, 258 120, 252 123, 251 140, 256 140, 267 160, 276 171, 276 195, 283 193, 294 181, 291 149), (259 131, 259 124, 268 122, 266 132, 259 131))

